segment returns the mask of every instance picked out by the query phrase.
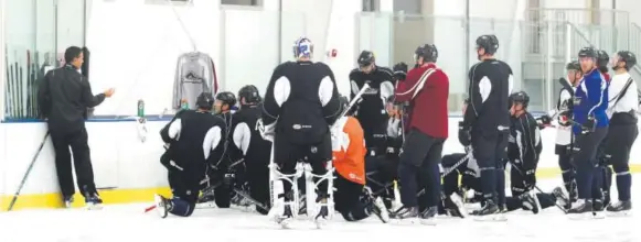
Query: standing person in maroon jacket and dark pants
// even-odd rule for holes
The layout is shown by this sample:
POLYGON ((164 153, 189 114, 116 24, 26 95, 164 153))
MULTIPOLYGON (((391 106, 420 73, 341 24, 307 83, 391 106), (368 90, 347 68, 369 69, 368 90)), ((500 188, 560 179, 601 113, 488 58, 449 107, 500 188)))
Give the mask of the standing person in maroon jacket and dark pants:
POLYGON ((399 79, 395 101, 408 103, 408 131, 398 164, 403 208, 394 218, 415 222, 417 218, 430 223, 440 202, 439 164, 442 145, 448 136, 448 76, 436 66, 438 51, 434 44, 415 51, 417 67, 399 79), (423 197, 417 190, 425 189, 423 197), (420 207, 425 207, 420 210, 420 207))

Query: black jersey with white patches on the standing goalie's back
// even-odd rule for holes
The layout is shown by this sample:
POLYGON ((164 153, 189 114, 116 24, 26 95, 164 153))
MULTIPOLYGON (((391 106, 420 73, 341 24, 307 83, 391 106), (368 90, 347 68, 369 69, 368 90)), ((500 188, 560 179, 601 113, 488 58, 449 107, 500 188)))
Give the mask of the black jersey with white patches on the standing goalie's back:
POLYGON ((274 70, 263 108, 265 125, 297 144, 318 144, 340 114, 334 74, 323 63, 287 62, 274 70))

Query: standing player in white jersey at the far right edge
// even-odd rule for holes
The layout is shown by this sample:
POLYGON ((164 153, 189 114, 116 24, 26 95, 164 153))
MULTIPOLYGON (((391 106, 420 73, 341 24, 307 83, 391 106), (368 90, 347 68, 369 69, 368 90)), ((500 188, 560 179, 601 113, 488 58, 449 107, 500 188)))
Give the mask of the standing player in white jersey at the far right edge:
MULTIPOLYGON (((637 64, 637 56, 629 51, 620 51, 612 58, 615 77, 610 81, 608 96, 608 117, 610 127, 606 141, 606 157, 617 174, 617 190, 619 201, 609 205, 609 212, 628 212, 632 209, 630 201, 630 151, 637 140, 637 111, 639 110, 639 97, 634 92, 637 82, 628 73, 637 64)), ((611 174, 606 179, 611 180, 611 174)), ((609 187, 608 187, 609 188, 609 187)), ((608 189, 609 190, 609 189, 608 189)))

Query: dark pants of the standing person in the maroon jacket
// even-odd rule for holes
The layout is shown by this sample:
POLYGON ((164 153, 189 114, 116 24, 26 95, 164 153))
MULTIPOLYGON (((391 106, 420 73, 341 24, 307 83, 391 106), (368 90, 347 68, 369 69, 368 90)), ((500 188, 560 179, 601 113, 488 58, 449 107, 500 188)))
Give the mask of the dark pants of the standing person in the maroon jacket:
POLYGON ((440 202, 440 164, 444 139, 429 136, 416 129, 409 131, 403 144, 398 164, 400 201, 406 207, 435 207, 440 202), (416 197, 425 189, 425 195, 416 197), (419 200, 420 199, 420 204, 419 200))

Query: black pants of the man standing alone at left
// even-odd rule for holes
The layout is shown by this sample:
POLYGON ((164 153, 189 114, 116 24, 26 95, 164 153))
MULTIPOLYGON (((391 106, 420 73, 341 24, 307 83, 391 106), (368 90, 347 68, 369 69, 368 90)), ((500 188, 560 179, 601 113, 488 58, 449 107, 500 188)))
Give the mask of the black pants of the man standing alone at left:
POLYGON ((77 185, 81 194, 86 196, 97 195, 94 184, 94 168, 92 167, 92 155, 87 143, 87 130, 82 128, 77 131, 65 132, 50 129, 53 148, 55 150, 55 169, 57 180, 64 197, 75 194, 74 176, 72 174, 72 153, 74 155, 74 167, 76 169, 77 185))

